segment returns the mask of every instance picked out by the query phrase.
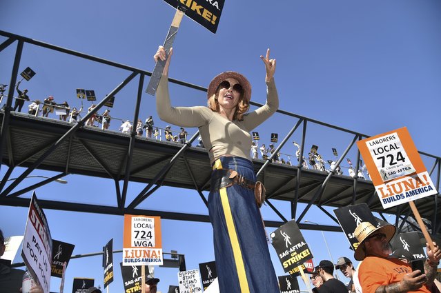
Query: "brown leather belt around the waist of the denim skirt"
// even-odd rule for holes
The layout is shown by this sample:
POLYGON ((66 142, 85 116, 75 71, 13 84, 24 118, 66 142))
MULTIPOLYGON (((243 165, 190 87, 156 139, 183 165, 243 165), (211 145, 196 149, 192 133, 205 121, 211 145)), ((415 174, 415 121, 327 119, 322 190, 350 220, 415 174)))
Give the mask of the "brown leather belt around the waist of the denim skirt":
POLYGON ((215 174, 211 177, 210 190, 215 192, 221 188, 228 188, 234 184, 240 185, 249 190, 255 188, 256 183, 249 179, 246 179, 241 174, 237 173, 235 170, 231 169, 217 169, 214 171, 215 174))

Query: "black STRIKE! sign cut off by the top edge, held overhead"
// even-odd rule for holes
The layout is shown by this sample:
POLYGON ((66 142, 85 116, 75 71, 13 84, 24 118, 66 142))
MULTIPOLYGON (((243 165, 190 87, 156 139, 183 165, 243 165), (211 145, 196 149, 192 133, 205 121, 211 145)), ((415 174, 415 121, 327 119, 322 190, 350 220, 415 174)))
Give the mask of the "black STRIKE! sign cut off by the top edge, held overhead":
POLYGON ((164 0, 176 9, 185 12, 201 26, 216 33, 225 0, 164 0))

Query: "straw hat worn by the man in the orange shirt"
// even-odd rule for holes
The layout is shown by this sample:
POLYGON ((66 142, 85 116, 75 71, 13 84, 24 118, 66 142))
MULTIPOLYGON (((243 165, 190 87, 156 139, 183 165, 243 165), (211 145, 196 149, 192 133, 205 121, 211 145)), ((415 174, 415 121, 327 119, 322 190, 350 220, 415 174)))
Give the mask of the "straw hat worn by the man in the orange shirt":
POLYGON ((384 233, 386 235, 387 242, 391 241, 393 234, 395 234, 395 226, 391 224, 383 225, 382 227, 375 227, 369 222, 362 222, 355 228, 354 235, 359 242, 357 248, 355 249, 354 258, 357 261, 362 261, 366 257, 366 252, 362 248, 363 241, 366 240, 371 234, 375 232, 384 233))

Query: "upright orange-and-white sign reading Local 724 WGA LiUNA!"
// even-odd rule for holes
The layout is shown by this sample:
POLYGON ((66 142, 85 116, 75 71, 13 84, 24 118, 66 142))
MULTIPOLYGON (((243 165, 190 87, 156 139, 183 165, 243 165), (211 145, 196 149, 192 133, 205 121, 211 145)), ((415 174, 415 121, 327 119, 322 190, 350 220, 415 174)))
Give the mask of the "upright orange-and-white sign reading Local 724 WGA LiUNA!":
POLYGON ((162 265, 161 218, 124 215, 123 265, 162 265))

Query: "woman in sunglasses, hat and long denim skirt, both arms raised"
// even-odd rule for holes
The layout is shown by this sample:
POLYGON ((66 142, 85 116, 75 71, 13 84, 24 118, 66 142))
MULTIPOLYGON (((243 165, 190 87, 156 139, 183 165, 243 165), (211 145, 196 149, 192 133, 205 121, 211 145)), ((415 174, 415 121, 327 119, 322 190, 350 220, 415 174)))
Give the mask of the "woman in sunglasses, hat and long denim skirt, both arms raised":
MULTIPOLYGON (((208 210, 213 225, 220 292, 279 292, 262 218, 255 202, 250 132, 279 108, 275 59, 260 58, 266 69, 266 104, 248 112, 251 85, 237 72, 222 72, 208 85, 208 107, 172 107, 168 94, 168 58, 159 46, 154 59, 166 60, 156 92, 159 117, 183 127, 197 127, 204 141, 211 174, 208 210), (237 184, 239 183, 239 184, 237 184)), ((262 185, 261 185, 262 187, 262 185)))

